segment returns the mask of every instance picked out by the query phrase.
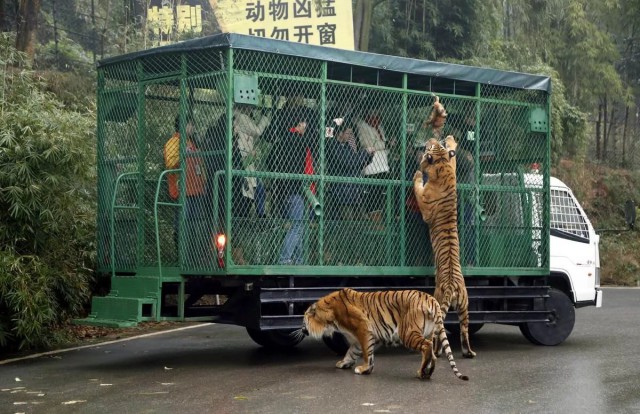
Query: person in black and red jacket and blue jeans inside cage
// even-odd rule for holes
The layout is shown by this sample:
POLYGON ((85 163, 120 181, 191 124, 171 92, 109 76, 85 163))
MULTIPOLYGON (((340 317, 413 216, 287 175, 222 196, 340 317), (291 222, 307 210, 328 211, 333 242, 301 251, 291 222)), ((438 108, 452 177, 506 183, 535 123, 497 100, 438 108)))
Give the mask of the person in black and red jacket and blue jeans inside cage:
MULTIPOLYGON (((280 130, 269 134, 273 146, 268 170, 286 174, 313 174, 313 153, 318 145, 318 122, 315 110, 289 106, 278 114, 280 130)), ((309 217, 305 200, 315 197, 315 184, 295 178, 276 178, 272 182, 273 204, 288 220, 288 229, 280 250, 279 264, 303 263, 304 221, 309 217)))

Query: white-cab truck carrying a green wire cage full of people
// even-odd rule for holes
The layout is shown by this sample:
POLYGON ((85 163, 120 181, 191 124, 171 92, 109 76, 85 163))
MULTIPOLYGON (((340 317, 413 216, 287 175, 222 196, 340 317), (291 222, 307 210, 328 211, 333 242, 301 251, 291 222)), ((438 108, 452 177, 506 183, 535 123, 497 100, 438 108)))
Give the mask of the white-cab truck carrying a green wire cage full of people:
MULTIPOLYGON (((432 292, 412 177, 435 96, 467 165, 457 214, 471 331, 507 324, 557 345, 577 308, 602 305, 599 236, 550 175, 547 76, 227 33, 97 69, 97 260, 109 293, 77 323, 211 321, 288 348, 309 304, 337 289, 432 292), (359 151, 364 164, 346 174, 359 151)), ((453 313, 446 323, 458 329, 453 313)), ((344 338, 325 342, 344 349, 344 338)))

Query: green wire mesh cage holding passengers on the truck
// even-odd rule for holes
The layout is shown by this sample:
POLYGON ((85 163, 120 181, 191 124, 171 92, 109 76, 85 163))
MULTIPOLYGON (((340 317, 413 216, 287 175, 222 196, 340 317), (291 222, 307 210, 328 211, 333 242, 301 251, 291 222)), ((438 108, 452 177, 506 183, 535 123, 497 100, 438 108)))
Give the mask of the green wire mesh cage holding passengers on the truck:
POLYGON ((433 266, 412 184, 432 92, 458 142, 463 266, 548 266, 530 173, 547 163, 545 92, 327 67, 228 48, 101 67, 101 267, 214 274, 218 234, 227 268, 433 266))

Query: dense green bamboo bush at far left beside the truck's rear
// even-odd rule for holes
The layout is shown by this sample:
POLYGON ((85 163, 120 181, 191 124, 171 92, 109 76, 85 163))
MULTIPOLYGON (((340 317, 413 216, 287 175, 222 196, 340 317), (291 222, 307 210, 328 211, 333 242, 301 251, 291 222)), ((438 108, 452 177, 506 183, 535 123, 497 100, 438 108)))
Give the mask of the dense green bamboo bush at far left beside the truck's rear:
POLYGON ((27 348, 54 341, 88 298, 95 116, 45 92, 12 41, 0 38, 0 347, 27 348))

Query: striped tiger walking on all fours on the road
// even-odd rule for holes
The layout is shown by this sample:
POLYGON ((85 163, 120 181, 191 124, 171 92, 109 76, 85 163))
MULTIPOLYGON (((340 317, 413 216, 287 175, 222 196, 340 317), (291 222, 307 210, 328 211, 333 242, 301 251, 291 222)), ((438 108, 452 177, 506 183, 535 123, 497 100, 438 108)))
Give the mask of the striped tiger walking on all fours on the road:
POLYGON ((456 367, 439 303, 425 292, 357 292, 345 288, 309 306, 298 332, 320 339, 335 331, 343 333, 351 345, 336 368, 351 368, 362 357, 363 363, 355 368, 355 373, 370 374, 376 343, 403 344, 422 354, 418 377, 429 379, 436 362, 431 338, 438 337, 453 373, 461 380, 469 379, 456 367))

